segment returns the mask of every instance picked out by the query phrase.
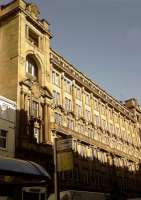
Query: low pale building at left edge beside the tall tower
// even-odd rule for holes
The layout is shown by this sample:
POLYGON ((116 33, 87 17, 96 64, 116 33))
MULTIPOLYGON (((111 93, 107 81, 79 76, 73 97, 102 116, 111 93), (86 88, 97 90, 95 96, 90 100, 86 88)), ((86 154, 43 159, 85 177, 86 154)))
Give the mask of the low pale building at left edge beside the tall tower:
POLYGON ((0 96, 0 156, 15 156, 16 104, 0 96))

